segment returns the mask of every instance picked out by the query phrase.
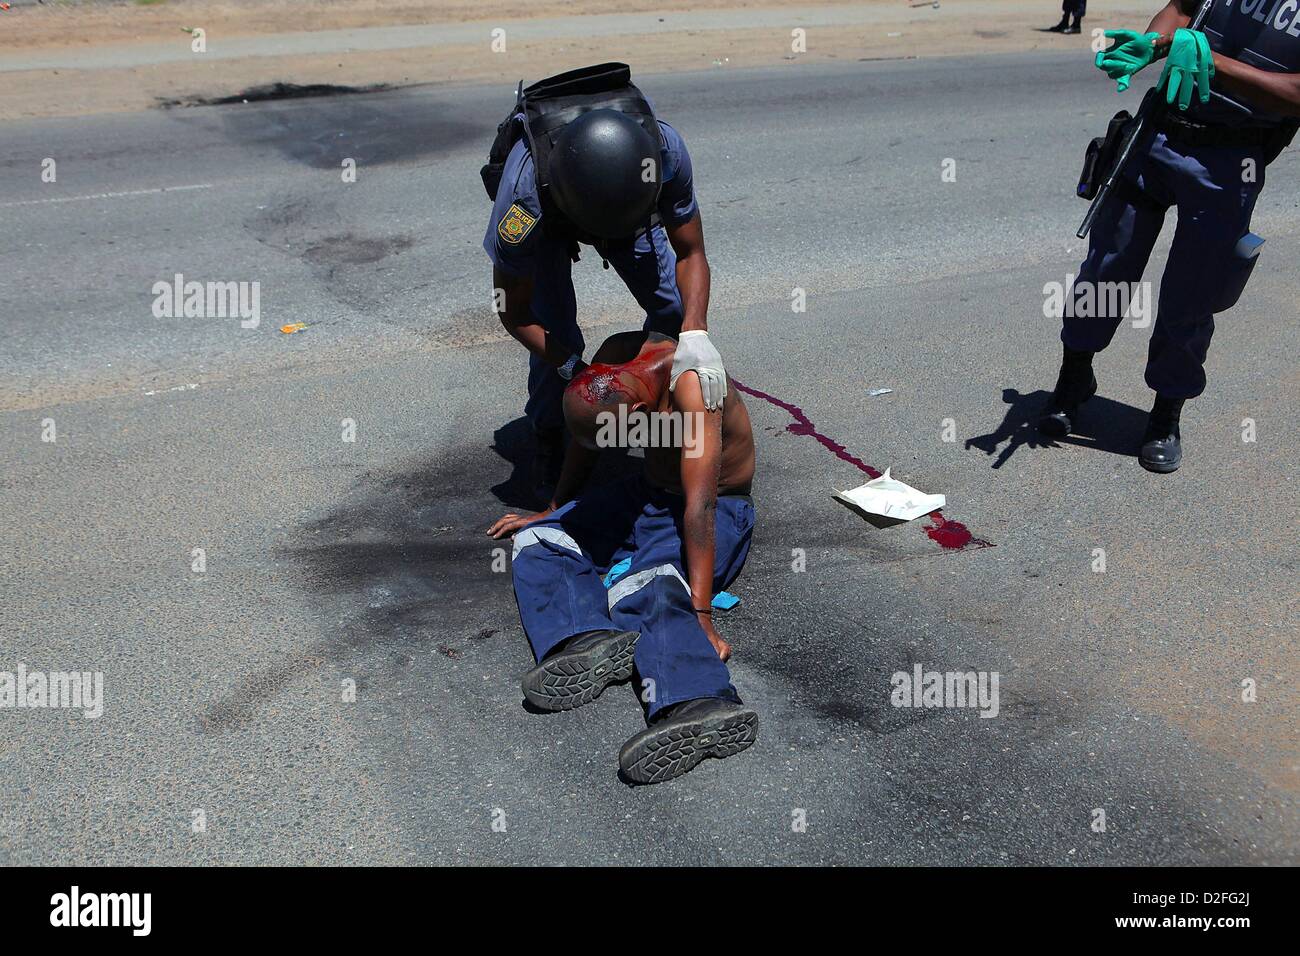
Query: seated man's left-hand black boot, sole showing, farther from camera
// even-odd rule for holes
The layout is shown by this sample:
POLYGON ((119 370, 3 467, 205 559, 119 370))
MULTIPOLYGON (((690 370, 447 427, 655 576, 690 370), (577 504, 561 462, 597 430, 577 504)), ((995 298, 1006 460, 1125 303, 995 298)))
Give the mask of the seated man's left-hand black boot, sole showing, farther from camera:
POLYGON ((572 710, 632 676, 636 631, 588 631, 564 641, 524 675, 524 697, 542 710, 572 710))

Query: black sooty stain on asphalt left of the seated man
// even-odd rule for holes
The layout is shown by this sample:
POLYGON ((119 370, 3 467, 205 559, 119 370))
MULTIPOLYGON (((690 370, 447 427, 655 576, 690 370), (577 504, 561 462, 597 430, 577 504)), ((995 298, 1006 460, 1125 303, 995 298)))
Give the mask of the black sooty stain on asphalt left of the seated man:
MULTIPOLYGON (((484 536, 493 510, 504 507, 464 494, 499 479, 500 463, 485 449, 451 449, 365 473, 335 509, 299 528, 276 557, 303 581, 326 636, 244 678, 203 714, 202 728, 243 727, 294 680, 326 667, 386 685, 403 683, 412 662, 426 669, 494 654, 507 636, 521 641, 510 542, 484 536)), ((511 669, 526 661, 517 643, 515 652, 511 669)))

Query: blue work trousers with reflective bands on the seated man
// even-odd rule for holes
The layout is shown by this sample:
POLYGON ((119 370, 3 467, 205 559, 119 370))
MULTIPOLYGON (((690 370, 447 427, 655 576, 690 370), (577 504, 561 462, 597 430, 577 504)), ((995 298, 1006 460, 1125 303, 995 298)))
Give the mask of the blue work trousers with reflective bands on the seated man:
MULTIPOLYGON (((515 600, 533 656, 541 661, 585 631, 640 631, 636 669, 647 717, 697 697, 738 700, 692 609, 684 503, 636 476, 594 488, 515 535, 515 600), (630 566, 606 589, 602 578, 624 558, 630 566)), ((753 531, 750 498, 719 496, 714 593, 740 575, 753 531)))

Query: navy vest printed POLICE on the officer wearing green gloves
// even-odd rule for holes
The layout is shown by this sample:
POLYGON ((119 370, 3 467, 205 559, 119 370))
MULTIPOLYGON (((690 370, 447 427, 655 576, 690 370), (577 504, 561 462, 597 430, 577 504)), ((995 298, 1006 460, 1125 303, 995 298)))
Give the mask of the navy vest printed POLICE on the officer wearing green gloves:
MULTIPOLYGON (((1300 72, 1300 0, 1221 0, 1201 27, 1210 48, 1269 73, 1300 72)), ((1192 96, 1188 118, 1218 126, 1280 126, 1286 116, 1216 88, 1209 103, 1192 96), (1226 101, 1225 101, 1226 100, 1226 101)))

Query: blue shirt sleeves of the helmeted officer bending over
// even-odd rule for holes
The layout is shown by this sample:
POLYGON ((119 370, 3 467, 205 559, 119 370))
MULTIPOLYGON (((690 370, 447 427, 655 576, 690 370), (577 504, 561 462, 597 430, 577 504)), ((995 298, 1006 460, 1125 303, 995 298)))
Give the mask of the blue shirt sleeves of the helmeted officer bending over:
MULTIPOLYGON (((1297 0, 1300 1, 1300 0, 1297 0)), ((690 153, 681 135, 659 120, 663 143, 659 150, 663 187, 658 213, 666 228, 689 222, 699 209, 690 168, 690 153)), ((484 250, 498 268, 529 276, 537 265, 538 245, 545 239, 542 204, 537 195, 537 174, 528 142, 520 139, 506 157, 500 189, 493 206, 484 250)))

